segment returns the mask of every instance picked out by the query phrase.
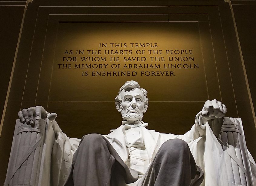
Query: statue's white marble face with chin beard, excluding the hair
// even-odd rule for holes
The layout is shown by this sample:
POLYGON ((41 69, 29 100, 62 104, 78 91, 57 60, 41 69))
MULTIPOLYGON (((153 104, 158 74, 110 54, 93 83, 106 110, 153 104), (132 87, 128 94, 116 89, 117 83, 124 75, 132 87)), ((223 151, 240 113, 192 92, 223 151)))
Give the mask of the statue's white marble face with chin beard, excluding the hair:
POLYGON ((134 88, 131 91, 122 91, 121 98, 123 119, 129 121, 129 123, 142 120, 145 96, 141 89, 134 88))

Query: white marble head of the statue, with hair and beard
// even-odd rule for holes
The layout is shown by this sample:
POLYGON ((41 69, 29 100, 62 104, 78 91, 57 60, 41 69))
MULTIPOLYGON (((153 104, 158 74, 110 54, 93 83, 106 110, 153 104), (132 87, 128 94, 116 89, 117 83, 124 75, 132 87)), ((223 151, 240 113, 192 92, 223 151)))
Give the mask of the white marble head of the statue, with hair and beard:
POLYGON ((136 81, 128 81, 120 88, 115 105, 122 118, 128 123, 142 120, 148 108, 147 91, 136 81))

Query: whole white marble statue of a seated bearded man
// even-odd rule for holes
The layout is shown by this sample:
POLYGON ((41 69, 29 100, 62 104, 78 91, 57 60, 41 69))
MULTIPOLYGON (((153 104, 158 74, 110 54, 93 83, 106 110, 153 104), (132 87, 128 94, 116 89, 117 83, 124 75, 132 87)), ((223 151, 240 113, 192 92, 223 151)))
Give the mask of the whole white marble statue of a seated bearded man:
MULTIPOLYGON (((206 101, 184 135, 145 128, 148 123, 142 118, 148 108, 147 91, 135 81, 125 82, 115 104, 123 118, 121 126, 108 135, 88 134, 82 139, 67 137, 55 121, 57 114, 42 106, 18 113, 22 123, 32 126, 47 117, 52 123, 52 186, 199 186, 216 182, 211 176, 214 168, 205 162, 206 154, 211 153, 206 146, 219 143, 215 136, 227 111, 224 104, 206 101)), ((255 170, 252 158, 251 166, 255 170)))

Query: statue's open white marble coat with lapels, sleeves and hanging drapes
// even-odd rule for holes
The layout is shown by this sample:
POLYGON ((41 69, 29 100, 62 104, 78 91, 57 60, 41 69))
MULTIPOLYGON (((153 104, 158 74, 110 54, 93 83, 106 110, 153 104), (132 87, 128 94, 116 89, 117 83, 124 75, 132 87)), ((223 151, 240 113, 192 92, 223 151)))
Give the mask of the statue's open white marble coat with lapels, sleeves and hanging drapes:
MULTIPOLYGON (((201 124, 201 112, 196 116, 195 123, 184 135, 159 133, 155 130, 147 130, 141 127, 145 148, 150 161, 154 158, 160 146, 168 139, 179 138, 186 141, 197 165, 204 171, 204 181, 201 186, 223 186, 228 180, 228 174, 224 156, 233 157, 228 151, 223 151, 222 145, 214 136, 208 123, 201 124)), ((56 121, 53 121, 56 122, 56 121)), ((118 152, 121 159, 126 162, 128 153, 125 142, 125 130, 121 125, 108 135, 103 135, 118 152)), ((72 155, 78 147, 80 139, 68 138, 64 133, 57 133, 52 149, 52 186, 62 186, 69 175, 69 168, 72 165, 72 155)), ((250 154, 249 154, 250 155, 250 154)), ((249 156, 252 169, 252 176, 255 178, 256 165, 249 156)), ((132 161, 130 159, 130 161, 132 161)), ((239 164, 239 162, 238 162, 239 164)), ((240 163, 241 164, 241 163, 240 163)), ((134 166, 140 166, 136 164, 134 166)))

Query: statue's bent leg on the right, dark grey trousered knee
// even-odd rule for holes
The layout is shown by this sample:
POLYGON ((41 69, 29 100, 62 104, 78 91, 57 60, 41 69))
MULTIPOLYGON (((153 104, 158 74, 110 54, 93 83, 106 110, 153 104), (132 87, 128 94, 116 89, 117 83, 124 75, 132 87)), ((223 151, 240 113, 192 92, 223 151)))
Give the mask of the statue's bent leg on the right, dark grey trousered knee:
POLYGON ((163 143, 139 185, 190 186, 196 163, 188 144, 181 139, 163 143))

